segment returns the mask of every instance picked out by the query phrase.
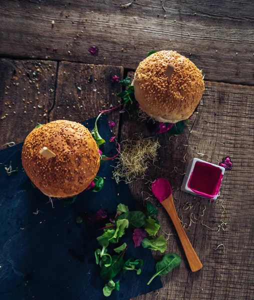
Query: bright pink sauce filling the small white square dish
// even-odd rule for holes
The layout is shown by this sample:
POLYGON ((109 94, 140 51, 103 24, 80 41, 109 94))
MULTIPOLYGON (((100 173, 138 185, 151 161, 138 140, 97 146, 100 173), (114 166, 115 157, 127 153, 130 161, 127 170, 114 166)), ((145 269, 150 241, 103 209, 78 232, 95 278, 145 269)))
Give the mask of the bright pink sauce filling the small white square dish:
POLYGON ((219 190, 223 175, 219 167, 196 161, 188 181, 188 188, 207 198, 213 198, 219 190))

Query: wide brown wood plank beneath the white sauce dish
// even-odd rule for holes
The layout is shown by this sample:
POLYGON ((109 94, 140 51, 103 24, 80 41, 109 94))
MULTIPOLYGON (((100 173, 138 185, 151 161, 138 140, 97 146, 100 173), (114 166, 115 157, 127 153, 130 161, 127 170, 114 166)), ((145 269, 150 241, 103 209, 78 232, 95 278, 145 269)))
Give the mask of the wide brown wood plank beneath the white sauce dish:
MULTIPOLYGON (((192 273, 177 236, 170 235, 167 251, 176 252, 183 258, 180 267, 162 277, 164 287, 158 292, 136 299, 253 299, 253 101, 254 87, 206 81, 203 105, 199 105, 197 113, 187 122, 183 133, 175 136, 169 133, 156 136, 153 134, 161 145, 160 158, 156 163, 157 167, 149 169, 148 179, 167 177, 173 188, 174 203, 179 217, 182 217, 187 225, 191 212, 197 217, 199 223, 192 223, 186 233, 203 268, 192 273), (198 155, 196 152, 206 155, 198 155), (226 212, 223 216, 220 203, 209 203, 206 199, 179 190, 184 176, 182 174, 187 166, 184 155, 186 161, 198 157, 215 164, 224 156, 231 157, 233 169, 225 171, 218 198, 224 198, 226 212), (175 166, 177 172, 174 171, 175 166), (184 206, 186 210, 183 209, 186 202, 193 205, 191 210, 186 209, 188 206, 184 206), (202 214, 204 207, 204 215, 199 216, 198 213, 202 214), (217 232, 221 219, 228 222, 225 227, 228 230, 221 229, 217 232), (201 220, 214 230, 202 226, 201 220), (222 246, 215 250, 221 243, 225 246, 224 252, 222 246)), ((142 132, 145 137, 152 135, 146 130, 144 123, 125 115, 121 125, 121 138, 125 139, 136 132, 142 132)), ((156 204, 154 197, 149 195, 148 184, 143 181, 138 180, 131 184, 132 193, 141 206, 146 198, 156 204)), ((175 234, 167 213, 161 206, 157 206, 161 228, 167 233, 175 234)), ((160 233, 164 234, 162 231, 160 233)), ((158 253, 154 254, 156 258, 161 256, 158 253)))

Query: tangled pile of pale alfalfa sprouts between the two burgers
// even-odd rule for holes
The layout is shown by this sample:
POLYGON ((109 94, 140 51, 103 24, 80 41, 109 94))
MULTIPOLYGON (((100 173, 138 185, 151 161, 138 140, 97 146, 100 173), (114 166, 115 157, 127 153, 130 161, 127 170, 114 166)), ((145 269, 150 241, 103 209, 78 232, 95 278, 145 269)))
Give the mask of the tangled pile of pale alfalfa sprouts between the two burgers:
POLYGON ((130 137, 121 142, 118 162, 113 171, 113 178, 118 183, 130 183, 143 179, 148 167, 157 160, 157 140, 140 136, 130 137))

